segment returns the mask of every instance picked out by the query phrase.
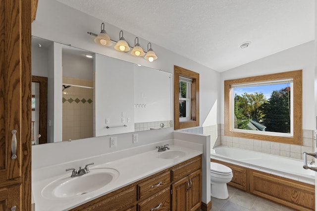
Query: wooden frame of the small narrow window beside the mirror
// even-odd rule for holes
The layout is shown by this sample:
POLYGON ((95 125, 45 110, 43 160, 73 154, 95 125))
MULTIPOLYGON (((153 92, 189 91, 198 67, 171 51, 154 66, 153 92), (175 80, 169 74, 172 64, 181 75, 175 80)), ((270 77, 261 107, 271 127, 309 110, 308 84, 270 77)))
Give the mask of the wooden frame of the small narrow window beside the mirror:
POLYGON ((199 73, 174 65, 174 129, 199 126, 199 73), (179 117, 179 78, 192 79, 190 84, 191 119, 181 121, 179 117))

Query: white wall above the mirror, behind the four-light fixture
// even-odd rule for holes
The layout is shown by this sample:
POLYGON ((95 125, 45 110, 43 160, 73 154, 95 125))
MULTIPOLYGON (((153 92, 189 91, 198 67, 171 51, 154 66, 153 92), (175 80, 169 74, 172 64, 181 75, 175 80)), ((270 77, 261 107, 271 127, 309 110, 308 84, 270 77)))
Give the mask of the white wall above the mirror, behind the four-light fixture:
MULTIPOLYGON (((130 53, 117 52, 112 47, 102 47, 94 43, 94 37, 87 32, 100 32, 102 22, 100 20, 68 7, 55 0, 39 0, 37 17, 32 23, 32 35, 52 40, 63 44, 71 44, 74 47, 108 55, 114 58, 142 64, 144 66, 160 69, 162 71, 174 72, 174 65, 200 73, 200 125, 206 119, 219 123, 219 112, 210 112, 212 108, 219 108, 219 78, 220 73, 181 55, 161 48, 152 43, 153 50, 157 53, 158 59, 148 62, 142 57, 131 56, 130 53), (58 15, 56 15, 58 13, 58 15), (76 23, 76 24, 74 24, 76 23), (74 36, 76 35, 76 36, 74 36)), ((118 40, 120 29, 105 22, 106 32, 110 38, 118 40)), ((145 29, 146 30, 146 29, 145 29)), ((142 32, 138 35, 124 31, 125 39, 133 44, 134 38, 139 37, 140 45, 146 49, 148 42, 142 39, 142 32)), ((212 58, 211 58, 212 59, 212 58)))

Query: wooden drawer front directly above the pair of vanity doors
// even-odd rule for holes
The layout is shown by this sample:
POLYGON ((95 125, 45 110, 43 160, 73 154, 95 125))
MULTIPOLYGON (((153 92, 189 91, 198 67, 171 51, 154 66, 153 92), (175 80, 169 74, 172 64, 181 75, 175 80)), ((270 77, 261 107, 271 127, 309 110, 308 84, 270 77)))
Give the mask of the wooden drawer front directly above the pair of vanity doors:
POLYGON ((188 162, 177 165, 175 168, 171 170, 172 173, 172 181, 176 181, 181 179, 190 173, 194 172, 197 169, 202 168, 202 157, 195 157, 190 159, 188 162))

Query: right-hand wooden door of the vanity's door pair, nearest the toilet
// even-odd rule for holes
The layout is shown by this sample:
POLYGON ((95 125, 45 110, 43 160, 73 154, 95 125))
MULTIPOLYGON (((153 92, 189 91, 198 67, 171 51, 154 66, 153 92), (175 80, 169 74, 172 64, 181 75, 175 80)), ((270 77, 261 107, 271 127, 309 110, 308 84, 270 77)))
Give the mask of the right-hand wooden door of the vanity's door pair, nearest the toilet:
POLYGON ((188 194, 189 210, 196 211, 202 204, 202 171, 197 170, 188 176, 190 188, 188 194))

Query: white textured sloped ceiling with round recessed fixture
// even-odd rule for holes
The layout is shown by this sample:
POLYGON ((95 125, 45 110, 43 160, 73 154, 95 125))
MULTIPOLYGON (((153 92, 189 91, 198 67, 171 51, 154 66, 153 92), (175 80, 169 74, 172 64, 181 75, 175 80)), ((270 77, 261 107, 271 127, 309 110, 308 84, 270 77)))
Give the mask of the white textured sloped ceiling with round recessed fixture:
POLYGON ((219 72, 315 39, 314 0, 58 1, 219 72))

